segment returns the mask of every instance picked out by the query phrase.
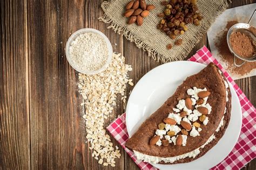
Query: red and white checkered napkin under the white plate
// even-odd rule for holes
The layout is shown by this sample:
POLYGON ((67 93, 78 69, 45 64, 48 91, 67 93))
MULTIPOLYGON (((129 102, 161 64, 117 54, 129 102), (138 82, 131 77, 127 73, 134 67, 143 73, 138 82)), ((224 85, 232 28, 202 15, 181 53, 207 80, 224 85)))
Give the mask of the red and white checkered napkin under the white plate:
MULTIPOLYGON (((256 157, 256 110, 251 102, 248 100, 248 98, 245 96, 245 94, 242 93, 241 89, 237 86, 237 84, 235 84, 230 75, 228 75, 228 73, 223 69, 219 62, 213 58, 211 52, 205 46, 199 49, 199 51, 188 60, 204 63, 205 65, 208 65, 208 63, 210 62, 214 62, 215 65, 217 65, 223 71, 227 80, 232 84, 235 91, 237 92, 242 107, 241 134, 237 144, 235 144, 235 147, 230 152, 230 154, 222 162, 220 162, 220 164, 214 166, 212 169, 240 169, 256 157)), ((125 147, 125 141, 129 138, 125 124, 125 114, 118 117, 116 121, 111 123, 107 127, 107 130, 124 148, 124 150, 131 156, 131 158, 140 167, 140 169, 157 169, 149 163, 138 160, 134 156, 134 153, 125 147)))

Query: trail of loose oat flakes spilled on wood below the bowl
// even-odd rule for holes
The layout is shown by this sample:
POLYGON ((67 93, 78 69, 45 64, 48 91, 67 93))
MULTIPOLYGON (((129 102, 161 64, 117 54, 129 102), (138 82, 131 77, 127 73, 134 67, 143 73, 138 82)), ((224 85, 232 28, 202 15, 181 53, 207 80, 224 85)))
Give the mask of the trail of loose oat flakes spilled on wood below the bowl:
POLYGON ((121 94, 126 102, 124 92, 126 83, 130 85, 128 72, 130 65, 125 65, 121 54, 113 54, 110 66, 104 72, 95 75, 79 74, 79 93, 84 98, 86 138, 90 150, 99 164, 116 166, 116 158, 121 154, 118 147, 113 147, 110 136, 104 129, 104 118, 107 118, 116 106, 117 94, 121 94), (103 163, 104 162, 104 163, 103 163))

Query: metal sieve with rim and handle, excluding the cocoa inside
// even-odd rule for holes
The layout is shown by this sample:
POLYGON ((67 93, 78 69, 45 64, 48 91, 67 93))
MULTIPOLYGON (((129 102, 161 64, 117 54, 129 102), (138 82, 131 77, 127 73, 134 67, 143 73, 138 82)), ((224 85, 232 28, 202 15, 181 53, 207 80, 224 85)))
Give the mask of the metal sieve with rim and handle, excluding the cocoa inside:
POLYGON ((241 32, 241 33, 245 33, 249 36, 251 36, 251 38, 255 41, 256 40, 256 37, 254 36, 253 33, 251 33, 251 31, 249 30, 251 25, 249 24, 254 16, 254 13, 255 13, 255 10, 253 12, 253 15, 251 17, 251 19, 249 20, 248 24, 245 24, 245 23, 238 23, 238 24, 235 24, 233 25, 227 32, 227 45, 228 45, 228 49, 230 49, 230 52, 234 55, 234 65, 237 66, 237 67, 240 67, 242 66, 246 61, 248 62, 254 62, 256 61, 256 54, 254 54, 251 58, 244 58, 238 54, 236 54, 233 49, 232 49, 232 46, 230 44, 230 36, 233 32, 241 32), (243 60, 243 62, 241 64, 237 64, 237 62, 235 61, 235 58, 239 58, 241 60, 243 60))

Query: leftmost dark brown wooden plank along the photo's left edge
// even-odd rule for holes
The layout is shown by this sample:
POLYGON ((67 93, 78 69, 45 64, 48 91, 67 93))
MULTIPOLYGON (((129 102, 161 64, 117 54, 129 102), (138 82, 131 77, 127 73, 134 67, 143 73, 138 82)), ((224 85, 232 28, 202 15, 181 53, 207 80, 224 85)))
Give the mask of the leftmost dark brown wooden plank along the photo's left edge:
POLYGON ((0 169, 29 169, 26 1, 0 4, 0 169))

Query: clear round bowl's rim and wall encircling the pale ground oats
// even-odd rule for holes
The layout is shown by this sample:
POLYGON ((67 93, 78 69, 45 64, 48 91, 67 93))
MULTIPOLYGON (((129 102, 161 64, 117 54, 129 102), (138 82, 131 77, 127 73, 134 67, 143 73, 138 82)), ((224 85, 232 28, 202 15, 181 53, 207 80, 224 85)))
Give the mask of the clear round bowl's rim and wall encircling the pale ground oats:
POLYGON ((66 59, 68 59, 68 62, 70 64, 70 66, 77 70, 77 72, 79 73, 83 73, 83 74, 98 74, 100 72, 103 72, 107 67, 109 67, 111 60, 112 60, 112 54, 113 54, 113 49, 112 49, 112 45, 109 41, 109 39, 105 36, 104 33, 100 32, 99 30, 95 30, 95 29, 80 29, 76 32, 74 32, 69 40, 66 42, 66 48, 65 48, 65 53, 66 53, 66 59), (98 70, 91 70, 91 71, 86 71, 83 70, 82 68, 79 68, 70 58, 70 52, 69 52, 69 47, 71 45, 71 43, 80 35, 80 34, 84 34, 85 32, 93 32, 93 33, 97 33, 99 36, 103 37, 103 39, 106 41, 107 44, 107 49, 109 51, 109 56, 107 56, 107 60, 106 63, 99 68, 98 70))

